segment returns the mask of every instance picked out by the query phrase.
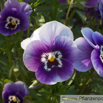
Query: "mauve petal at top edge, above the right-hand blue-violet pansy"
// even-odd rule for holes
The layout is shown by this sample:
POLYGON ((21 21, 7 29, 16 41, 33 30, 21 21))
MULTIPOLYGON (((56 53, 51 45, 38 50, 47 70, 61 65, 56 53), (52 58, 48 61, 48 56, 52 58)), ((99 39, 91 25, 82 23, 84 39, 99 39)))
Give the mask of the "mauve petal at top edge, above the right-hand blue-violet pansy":
POLYGON ((87 0, 87 1, 82 1, 81 2, 85 7, 92 8, 96 7, 97 4, 99 3, 99 0, 87 0))

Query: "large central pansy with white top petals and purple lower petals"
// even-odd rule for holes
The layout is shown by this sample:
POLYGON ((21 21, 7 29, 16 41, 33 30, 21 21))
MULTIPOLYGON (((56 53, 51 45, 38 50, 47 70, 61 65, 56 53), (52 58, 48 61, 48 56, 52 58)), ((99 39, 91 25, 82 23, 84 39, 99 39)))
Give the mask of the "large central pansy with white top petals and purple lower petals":
POLYGON ((73 34, 65 25, 51 21, 33 32, 21 43, 23 61, 28 70, 36 72, 43 84, 56 84, 69 79, 77 57, 73 34))

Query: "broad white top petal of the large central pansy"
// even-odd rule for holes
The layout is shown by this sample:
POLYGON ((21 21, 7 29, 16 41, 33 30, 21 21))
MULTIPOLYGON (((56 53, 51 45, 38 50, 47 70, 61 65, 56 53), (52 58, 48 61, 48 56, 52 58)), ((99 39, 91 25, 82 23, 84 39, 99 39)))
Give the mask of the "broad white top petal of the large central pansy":
MULTIPOLYGON (((51 46, 57 36, 68 36, 71 40, 73 40, 72 31, 68 27, 57 21, 48 22, 42 27, 35 30, 32 36, 30 37, 30 40, 41 40, 46 45, 51 46)), ((23 42, 24 44, 26 43, 25 40, 23 42)))

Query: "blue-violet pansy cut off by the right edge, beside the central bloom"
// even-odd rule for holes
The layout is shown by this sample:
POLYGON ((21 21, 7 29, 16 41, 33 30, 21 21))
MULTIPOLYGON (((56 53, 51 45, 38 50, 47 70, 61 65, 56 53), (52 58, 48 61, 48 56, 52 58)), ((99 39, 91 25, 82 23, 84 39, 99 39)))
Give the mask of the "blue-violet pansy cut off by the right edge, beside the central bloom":
POLYGON ((82 29, 84 36, 75 40, 78 47, 78 57, 74 67, 78 71, 88 71, 94 67, 95 71, 103 77, 103 36, 93 32, 90 28, 82 29))

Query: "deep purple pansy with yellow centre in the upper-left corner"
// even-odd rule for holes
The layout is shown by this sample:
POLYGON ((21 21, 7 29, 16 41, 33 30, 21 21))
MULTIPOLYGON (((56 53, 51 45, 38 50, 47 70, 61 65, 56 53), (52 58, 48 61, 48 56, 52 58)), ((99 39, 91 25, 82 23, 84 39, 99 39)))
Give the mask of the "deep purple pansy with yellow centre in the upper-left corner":
POLYGON ((0 12, 0 33, 8 36, 19 30, 27 30, 30 26, 30 5, 18 0, 7 0, 0 12))

